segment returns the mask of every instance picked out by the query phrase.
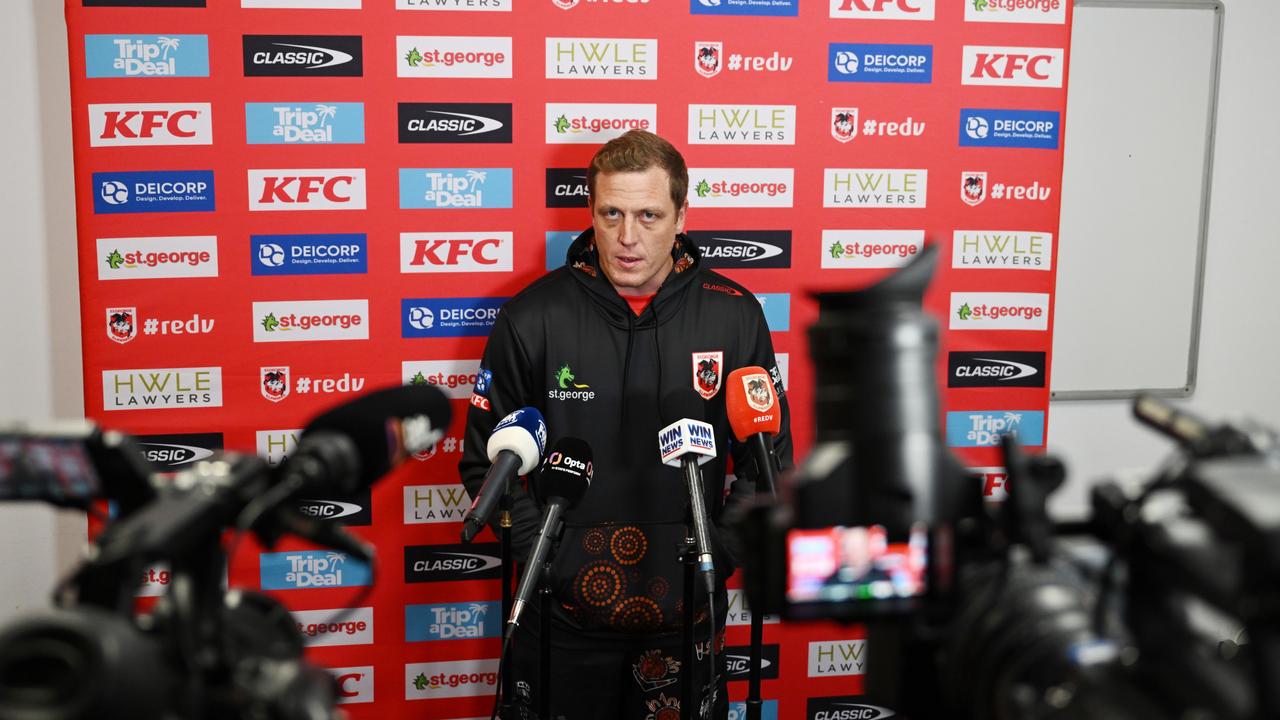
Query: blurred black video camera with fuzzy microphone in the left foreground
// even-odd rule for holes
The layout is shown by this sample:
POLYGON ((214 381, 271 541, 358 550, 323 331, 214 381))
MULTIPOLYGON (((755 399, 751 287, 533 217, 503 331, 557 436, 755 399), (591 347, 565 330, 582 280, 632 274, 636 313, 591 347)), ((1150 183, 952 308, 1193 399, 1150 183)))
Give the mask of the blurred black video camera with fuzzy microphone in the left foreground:
POLYGON ((227 452, 172 478, 131 437, 92 423, 0 427, 0 500, 115 505, 56 607, 0 628, 0 720, 337 717, 337 684, 303 660, 284 606, 224 588, 224 530, 266 547, 294 534, 371 565, 365 543, 297 502, 369 487, 438 441, 449 414, 431 386, 388 388, 314 419, 275 468, 227 452), (168 592, 138 614, 134 592, 155 564, 169 568, 168 592))

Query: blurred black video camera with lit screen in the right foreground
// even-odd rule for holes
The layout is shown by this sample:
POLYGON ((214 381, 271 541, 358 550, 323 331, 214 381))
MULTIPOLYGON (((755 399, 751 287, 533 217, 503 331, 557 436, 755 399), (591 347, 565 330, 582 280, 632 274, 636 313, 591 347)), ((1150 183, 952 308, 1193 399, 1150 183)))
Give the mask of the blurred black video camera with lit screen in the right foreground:
POLYGON ((986 502, 940 432, 934 258, 817 296, 817 442, 737 523, 753 610, 867 623, 879 717, 1280 717, 1275 434, 1140 398, 1179 443, 1153 478, 1055 524, 1062 464, 1010 433, 1007 498, 986 502))

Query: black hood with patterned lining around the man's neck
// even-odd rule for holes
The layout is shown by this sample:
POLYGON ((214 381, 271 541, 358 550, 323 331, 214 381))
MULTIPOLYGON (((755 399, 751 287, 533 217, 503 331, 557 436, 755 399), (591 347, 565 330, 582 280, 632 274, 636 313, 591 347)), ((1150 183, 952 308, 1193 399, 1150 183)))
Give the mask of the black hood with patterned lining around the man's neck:
POLYGON ((631 306, 618 295, 617 288, 600 269, 600 258, 595 251, 595 229, 586 228, 573 240, 564 254, 564 266, 570 268, 570 274, 586 290, 609 324, 626 329, 641 329, 669 320, 673 314, 664 310, 669 309, 671 304, 689 290, 694 278, 701 274, 703 255, 687 234, 676 236, 676 242, 671 249, 671 259, 673 261, 671 273, 667 274, 653 301, 639 318, 635 316, 631 306))

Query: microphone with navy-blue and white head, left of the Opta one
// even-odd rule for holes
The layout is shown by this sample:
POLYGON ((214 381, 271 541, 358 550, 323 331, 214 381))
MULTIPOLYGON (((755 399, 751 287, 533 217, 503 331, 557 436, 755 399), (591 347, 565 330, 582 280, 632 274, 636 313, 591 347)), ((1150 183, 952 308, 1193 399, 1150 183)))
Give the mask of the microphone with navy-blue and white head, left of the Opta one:
POLYGON ((547 423, 543 421, 543 414, 532 407, 521 407, 494 427, 489 445, 485 446, 493 465, 462 518, 462 542, 471 542, 484 529, 498 507, 498 501, 507 495, 511 480, 517 475, 527 475, 541 460, 545 448, 547 423))

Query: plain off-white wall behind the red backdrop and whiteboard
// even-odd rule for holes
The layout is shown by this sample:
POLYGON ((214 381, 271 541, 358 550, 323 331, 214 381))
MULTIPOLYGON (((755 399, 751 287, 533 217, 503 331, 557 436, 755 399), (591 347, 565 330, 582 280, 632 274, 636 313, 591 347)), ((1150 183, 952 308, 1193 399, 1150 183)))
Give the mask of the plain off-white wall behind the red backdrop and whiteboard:
MULTIPOLYGON (((1253 416, 1280 427, 1280 3, 1225 0, 1213 199, 1199 383, 1188 405, 1208 418, 1253 416)), ((83 414, 73 214, 67 31, 56 0, 5 4, 0 67, 0 419, 83 414)), ((1157 242, 1157 238, 1152 240, 1157 242)), ((1158 268, 1146 282, 1158 282, 1158 268)), ((1057 509, 1084 507, 1087 480, 1151 468, 1169 445, 1138 428, 1124 402, 1056 402, 1050 450, 1071 483, 1057 509)), ((0 506, 0 620, 45 605, 83 520, 42 506, 0 506)))

